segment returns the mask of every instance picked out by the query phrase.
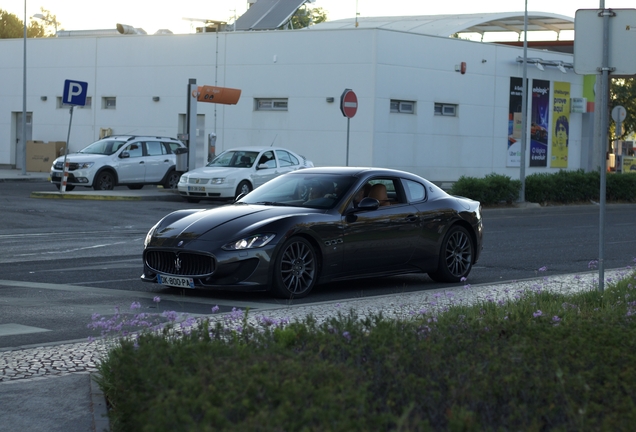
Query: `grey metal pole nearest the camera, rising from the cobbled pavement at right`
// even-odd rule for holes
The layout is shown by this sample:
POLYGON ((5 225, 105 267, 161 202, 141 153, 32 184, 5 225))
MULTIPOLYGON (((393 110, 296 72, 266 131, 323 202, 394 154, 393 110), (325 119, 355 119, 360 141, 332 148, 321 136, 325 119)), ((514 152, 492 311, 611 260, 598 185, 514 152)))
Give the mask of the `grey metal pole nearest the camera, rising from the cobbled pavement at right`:
POLYGON ((599 233, 598 233, 598 290, 603 292, 605 290, 605 193, 606 193, 606 152, 607 152, 607 131, 608 131, 608 95, 609 95, 609 18, 611 10, 605 9, 605 1, 601 0, 601 14, 603 16, 603 64, 601 65, 601 104, 599 109, 601 110, 601 190, 599 197, 600 211, 599 211, 599 233))

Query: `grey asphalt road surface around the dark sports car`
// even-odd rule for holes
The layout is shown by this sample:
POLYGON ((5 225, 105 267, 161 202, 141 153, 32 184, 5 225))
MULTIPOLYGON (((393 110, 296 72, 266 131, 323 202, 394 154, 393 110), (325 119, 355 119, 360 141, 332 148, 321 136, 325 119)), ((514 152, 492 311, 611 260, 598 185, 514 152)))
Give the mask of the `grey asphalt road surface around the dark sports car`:
MULTIPOLYGON (((266 293, 161 289, 139 280, 148 229, 165 214, 221 203, 82 201, 30 198, 43 182, 0 183, 0 349, 86 339, 91 316, 130 312, 209 314, 249 307, 258 313, 288 307, 444 287, 426 275, 333 283, 301 300, 266 293), (161 297, 157 304, 155 296, 161 297)), ((634 265, 636 205, 608 205, 605 268, 634 265)), ((486 209, 485 244, 468 282, 475 287, 511 280, 588 272, 599 256, 599 207, 593 204, 486 209), (538 272, 541 267, 547 271, 538 272)))

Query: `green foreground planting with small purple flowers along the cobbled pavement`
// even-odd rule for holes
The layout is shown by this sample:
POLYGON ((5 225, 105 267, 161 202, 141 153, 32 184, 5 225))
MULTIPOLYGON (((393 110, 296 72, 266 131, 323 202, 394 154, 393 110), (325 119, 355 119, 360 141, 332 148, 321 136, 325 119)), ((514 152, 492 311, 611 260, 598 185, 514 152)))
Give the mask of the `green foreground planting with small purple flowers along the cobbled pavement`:
POLYGON ((235 311, 119 339, 114 431, 631 430, 636 274, 404 319, 235 311))

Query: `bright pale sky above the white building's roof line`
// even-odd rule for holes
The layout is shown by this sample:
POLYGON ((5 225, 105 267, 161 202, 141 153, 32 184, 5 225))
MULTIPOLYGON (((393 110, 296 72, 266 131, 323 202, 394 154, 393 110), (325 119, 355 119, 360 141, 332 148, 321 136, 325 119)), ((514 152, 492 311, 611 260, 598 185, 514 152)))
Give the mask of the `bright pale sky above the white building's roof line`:
MULTIPOLYGON (((523 12, 525 2, 530 12, 550 12, 574 17, 577 9, 634 8, 634 0, 315 0, 311 6, 327 11, 329 20, 360 17, 467 14, 479 12, 523 12)), ((27 19, 40 8, 57 16, 59 29, 115 29, 127 24, 153 34, 160 29, 173 33, 193 33, 200 22, 185 20, 217 20, 233 22, 247 10, 247 0, 179 0, 162 3, 157 0, 2 0, 0 9, 27 19), (101 3, 101 4, 100 4, 101 3), (90 6, 88 6, 90 5, 90 6)))

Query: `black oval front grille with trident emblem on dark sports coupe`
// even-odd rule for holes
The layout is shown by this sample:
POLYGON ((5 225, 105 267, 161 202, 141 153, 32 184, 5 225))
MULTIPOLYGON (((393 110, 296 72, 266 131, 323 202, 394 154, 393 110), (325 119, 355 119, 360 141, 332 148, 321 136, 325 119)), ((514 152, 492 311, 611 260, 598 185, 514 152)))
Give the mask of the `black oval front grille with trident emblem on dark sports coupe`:
POLYGON ((178 276, 207 276, 214 273, 214 258, 192 252, 146 251, 146 265, 154 272, 178 276))

